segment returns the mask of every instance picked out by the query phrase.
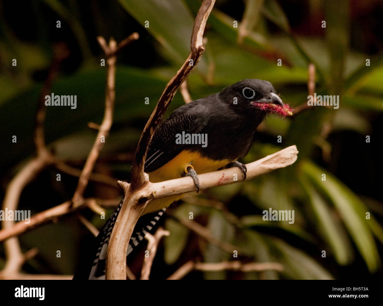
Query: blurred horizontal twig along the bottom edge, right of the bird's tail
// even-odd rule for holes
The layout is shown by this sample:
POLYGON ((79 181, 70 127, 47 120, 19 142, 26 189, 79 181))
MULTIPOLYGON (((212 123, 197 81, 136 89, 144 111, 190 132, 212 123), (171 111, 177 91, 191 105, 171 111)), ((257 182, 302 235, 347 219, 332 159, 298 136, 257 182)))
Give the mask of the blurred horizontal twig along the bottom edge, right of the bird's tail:
POLYGON ((283 265, 277 262, 252 262, 252 263, 241 263, 239 261, 232 262, 218 262, 218 263, 205 263, 205 262, 193 262, 189 261, 182 265, 176 272, 174 272, 168 280, 180 280, 185 277, 188 273, 193 270, 199 271, 223 271, 223 270, 234 270, 241 272, 251 271, 266 271, 266 270, 277 270, 282 271, 283 265))

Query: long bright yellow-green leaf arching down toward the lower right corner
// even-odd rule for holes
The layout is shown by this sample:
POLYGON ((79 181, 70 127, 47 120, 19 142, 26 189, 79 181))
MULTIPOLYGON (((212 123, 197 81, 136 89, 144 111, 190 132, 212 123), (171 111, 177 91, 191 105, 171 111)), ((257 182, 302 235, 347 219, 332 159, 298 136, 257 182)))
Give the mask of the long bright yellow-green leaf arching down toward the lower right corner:
POLYGON ((383 241, 383 229, 380 224, 375 221, 373 216, 371 216, 370 220, 366 220, 365 213, 368 209, 365 205, 349 188, 330 173, 309 161, 302 162, 301 169, 304 175, 334 203, 360 254, 365 260, 368 270, 375 272, 381 263, 371 230, 383 241), (321 179, 323 173, 326 174, 326 181, 321 179))

